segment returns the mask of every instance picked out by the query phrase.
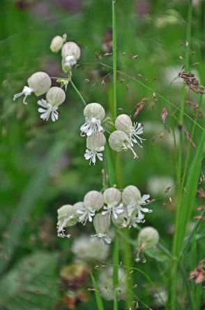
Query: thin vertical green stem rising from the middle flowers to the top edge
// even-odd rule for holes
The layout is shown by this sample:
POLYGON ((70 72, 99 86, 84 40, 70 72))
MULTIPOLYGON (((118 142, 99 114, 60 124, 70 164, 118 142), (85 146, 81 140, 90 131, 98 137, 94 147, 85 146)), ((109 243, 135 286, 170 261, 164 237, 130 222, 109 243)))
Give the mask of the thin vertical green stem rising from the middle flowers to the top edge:
POLYGON ((113 63, 113 117, 116 118, 117 104, 116 104, 116 0, 112 0, 112 63, 113 63))

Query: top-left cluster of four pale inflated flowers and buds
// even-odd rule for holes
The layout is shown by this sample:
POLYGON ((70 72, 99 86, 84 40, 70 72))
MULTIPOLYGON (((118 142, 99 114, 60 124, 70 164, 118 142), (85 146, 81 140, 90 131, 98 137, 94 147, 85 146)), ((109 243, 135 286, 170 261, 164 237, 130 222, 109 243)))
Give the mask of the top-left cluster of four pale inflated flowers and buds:
MULTIPOLYGON (((66 42, 66 34, 61 36, 55 36, 52 39, 50 49, 52 52, 59 52, 61 50, 62 55, 62 69, 68 73, 67 79, 59 79, 61 85, 67 87, 71 78, 71 68, 77 62, 80 57, 80 48, 74 42, 66 42), (66 42, 66 43, 65 43, 66 42)), ((27 104, 26 98, 34 93, 36 97, 45 94, 45 99, 38 100, 38 112, 42 120, 49 120, 55 122, 59 118, 58 108, 66 100, 66 93, 61 87, 52 87, 52 80, 45 72, 33 73, 27 80, 28 86, 24 86, 22 92, 15 94, 13 100, 18 97, 24 96, 23 103, 27 104)))

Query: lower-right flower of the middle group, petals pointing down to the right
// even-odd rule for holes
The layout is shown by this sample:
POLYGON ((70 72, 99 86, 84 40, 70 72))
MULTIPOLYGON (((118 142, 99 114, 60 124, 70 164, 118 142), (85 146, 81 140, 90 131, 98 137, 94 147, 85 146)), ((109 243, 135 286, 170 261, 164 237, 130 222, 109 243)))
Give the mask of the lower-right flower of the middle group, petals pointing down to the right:
POLYGON ((138 157, 132 148, 132 141, 130 140, 128 134, 126 134, 122 130, 115 130, 114 132, 112 132, 112 134, 110 134, 109 136, 108 142, 112 150, 115 150, 116 152, 121 152, 121 150, 130 149, 134 154, 134 159, 138 157))

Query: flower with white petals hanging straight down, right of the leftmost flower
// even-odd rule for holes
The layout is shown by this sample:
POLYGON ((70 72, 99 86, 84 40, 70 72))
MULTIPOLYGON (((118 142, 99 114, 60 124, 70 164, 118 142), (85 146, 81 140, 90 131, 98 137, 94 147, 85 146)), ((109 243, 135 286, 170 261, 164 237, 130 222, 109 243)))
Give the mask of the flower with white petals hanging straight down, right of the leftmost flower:
POLYGON ((40 118, 49 120, 50 115, 52 121, 55 122, 59 118, 58 108, 66 99, 66 94, 61 87, 51 87, 46 93, 46 100, 38 100, 38 112, 41 113, 40 118))

